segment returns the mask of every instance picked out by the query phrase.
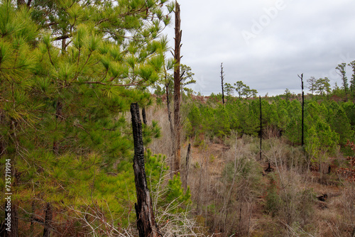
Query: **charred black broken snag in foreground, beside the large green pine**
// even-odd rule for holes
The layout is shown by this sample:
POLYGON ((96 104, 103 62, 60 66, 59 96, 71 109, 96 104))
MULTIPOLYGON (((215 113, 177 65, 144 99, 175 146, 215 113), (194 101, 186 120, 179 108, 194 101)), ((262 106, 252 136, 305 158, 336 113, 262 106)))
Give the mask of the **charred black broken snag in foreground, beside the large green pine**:
POLYGON ((161 236, 158 227, 155 224, 153 205, 146 180, 142 122, 139 116, 139 107, 136 103, 131 104, 131 116, 134 141, 133 170, 137 193, 137 203, 135 204, 135 208, 139 237, 161 236))

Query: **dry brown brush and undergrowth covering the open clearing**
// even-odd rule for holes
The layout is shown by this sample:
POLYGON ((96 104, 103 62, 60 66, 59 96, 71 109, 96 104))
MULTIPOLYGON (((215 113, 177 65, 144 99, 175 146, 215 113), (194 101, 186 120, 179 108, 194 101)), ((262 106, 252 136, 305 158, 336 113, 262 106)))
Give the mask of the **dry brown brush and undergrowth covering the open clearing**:
MULTIPOLYGON (((171 154, 165 108, 152 107, 148 117, 158 121, 162 132, 151 150, 171 154)), ((348 164, 339 147, 331 157, 310 162, 302 147, 271 129, 263 134, 260 160, 257 136, 187 133, 182 173, 189 168, 189 216, 203 227, 203 235, 354 236, 355 185, 339 172, 348 164), (188 143, 192 150, 186 166, 188 143)))

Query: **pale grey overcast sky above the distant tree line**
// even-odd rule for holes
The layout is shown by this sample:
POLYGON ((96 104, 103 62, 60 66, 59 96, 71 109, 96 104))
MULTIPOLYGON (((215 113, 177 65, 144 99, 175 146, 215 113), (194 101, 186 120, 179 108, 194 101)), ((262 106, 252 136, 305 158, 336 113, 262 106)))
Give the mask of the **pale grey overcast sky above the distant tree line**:
MULTIPOLYGON (((182 64, 190 66, 195 92, 221 92, 243 81, 258 94, 300 93, 297 75, 342 82, 339 63, 355 60, 354 0, 178 0, 182 64)), ((173 45, 174 24, 168 33, 173 45)), ((347 68, 350 79, 351 68, 347 68)))

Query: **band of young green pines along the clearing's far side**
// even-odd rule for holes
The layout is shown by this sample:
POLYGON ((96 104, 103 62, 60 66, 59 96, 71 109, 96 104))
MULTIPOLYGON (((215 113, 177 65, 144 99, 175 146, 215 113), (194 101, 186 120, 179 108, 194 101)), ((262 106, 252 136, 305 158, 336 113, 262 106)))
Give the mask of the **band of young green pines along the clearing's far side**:
MULTIPOLYGON (((187 136, 223 138, 237 132, 257 136, 260 130, 258 99, 229 98, 224 106, 218 95, 207 103, 185 104, 187 136)), ((263 136, 283 136, 290 144, 301 145, 302 106, 298 99, 262 99, 263 136)), ((354 104, 351 101, 305 101, 305 150, 313 162, 333 155, 337 147, 354 140, 354 104)))

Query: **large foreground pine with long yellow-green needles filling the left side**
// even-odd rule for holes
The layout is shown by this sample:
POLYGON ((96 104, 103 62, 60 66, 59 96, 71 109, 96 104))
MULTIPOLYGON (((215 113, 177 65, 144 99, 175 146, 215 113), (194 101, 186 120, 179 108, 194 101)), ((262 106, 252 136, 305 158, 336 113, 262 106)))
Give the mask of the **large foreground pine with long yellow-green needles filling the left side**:
MULTIPOLYGON (((72 222, 70 211, 97 216, 120 206, 107 173, 124 172, 114 165, 133 158, 124 114, 131 102, 151 103, 145 88, 167 48, 164 2, 0 4, 1 162, 11 160, 18 227, 36 223, 49 235, 72 222)), ((158 136, 153 126, 146 141, 158 136)))

